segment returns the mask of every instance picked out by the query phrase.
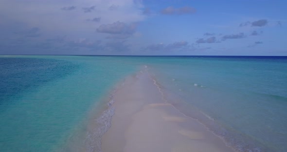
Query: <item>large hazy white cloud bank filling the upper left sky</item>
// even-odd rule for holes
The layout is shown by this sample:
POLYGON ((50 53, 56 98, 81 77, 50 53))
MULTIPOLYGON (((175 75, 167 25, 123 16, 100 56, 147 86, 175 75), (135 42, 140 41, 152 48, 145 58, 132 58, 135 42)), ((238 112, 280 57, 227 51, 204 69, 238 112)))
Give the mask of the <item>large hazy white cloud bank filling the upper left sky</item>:
MULTIPOLYGON (((134 0, 2 0, 0 16, 9 16, 10 22, 21 22, 28 28, 38 27, 44 33, 64 33, 65 35, 77 35, 78 33, 90 33, 100 24, 110 24, 115 21, 125 23, 142 21, 143 5, 134 0), (118 6, 110 11, 111 5, 118 6), (78 9, 63 11, 62 8, 73 6, 78 9), (94 9, 84 13, 82 8, 94 9), (101 23, 89 24, 87 19, 101 18, 101 23)), ((9 24, 9 23, 8 23, 9 24)))

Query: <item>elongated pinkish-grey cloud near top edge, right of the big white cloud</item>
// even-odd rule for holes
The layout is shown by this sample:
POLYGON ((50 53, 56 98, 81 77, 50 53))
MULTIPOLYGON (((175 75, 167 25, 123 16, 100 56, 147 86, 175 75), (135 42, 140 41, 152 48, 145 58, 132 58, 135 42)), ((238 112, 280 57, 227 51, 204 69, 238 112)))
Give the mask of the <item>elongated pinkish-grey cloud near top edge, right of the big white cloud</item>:
POLYGON ((183 14, 193 14, 195 12, 196 9, 189 6, 184 6, 180 8, 174 8, 173 6, 169 6, 161 10, 161 14, 163 15, 183 15, 183 14))

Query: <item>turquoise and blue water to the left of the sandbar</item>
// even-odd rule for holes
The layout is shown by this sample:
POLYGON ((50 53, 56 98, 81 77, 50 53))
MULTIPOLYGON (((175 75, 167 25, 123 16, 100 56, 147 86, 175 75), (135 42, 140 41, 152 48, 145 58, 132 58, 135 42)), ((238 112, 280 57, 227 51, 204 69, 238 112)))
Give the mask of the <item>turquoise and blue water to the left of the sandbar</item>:
POLYGON ((113 57, 0 57, 0 151, 70 152, 77 138, 85 146, 88 114, 135 70, 113 57))

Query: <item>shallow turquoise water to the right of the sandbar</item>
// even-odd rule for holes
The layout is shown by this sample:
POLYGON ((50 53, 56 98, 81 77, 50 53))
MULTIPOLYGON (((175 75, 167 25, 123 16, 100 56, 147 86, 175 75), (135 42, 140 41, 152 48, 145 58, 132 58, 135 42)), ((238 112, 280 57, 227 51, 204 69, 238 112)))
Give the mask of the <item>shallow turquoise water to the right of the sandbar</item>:
POLYGON ((287 58, 175 57, 152 70, 171 103, 237 151, 287 151, 287 58))

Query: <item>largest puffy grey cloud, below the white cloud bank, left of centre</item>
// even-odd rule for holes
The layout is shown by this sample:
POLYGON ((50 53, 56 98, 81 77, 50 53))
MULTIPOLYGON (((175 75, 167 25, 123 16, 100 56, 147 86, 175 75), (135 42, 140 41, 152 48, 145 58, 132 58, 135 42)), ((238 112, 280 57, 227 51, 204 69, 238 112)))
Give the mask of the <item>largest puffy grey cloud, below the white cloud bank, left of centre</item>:
POLYGON ((114 22, 112 24, 102 24, 97 28, 99 33, 107 34, 133 34, 137 28, 136 23, 126 24, 124 22, 114 22))

